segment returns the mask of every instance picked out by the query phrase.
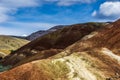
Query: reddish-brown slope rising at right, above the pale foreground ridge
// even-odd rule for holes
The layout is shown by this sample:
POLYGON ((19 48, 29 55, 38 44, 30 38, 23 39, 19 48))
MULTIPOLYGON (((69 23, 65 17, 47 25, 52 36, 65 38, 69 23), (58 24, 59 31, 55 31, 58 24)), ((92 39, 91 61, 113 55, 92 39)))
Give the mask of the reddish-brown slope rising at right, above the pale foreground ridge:
POLYGON ((100 30, 99 33, 94 37, 79 41, 79 44, 74 45, 74 48, 72 47, 71 50, 75 51, 76 49, 76 51, 82 51, 101 47, 107 47, 109 49, 116 50, 115 53, 120 55, 120 20, 107 25, 105 29, 100 30), (82 46, 85 46, 86 48, 82 46))

